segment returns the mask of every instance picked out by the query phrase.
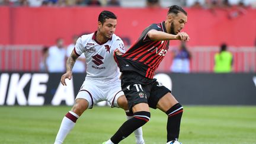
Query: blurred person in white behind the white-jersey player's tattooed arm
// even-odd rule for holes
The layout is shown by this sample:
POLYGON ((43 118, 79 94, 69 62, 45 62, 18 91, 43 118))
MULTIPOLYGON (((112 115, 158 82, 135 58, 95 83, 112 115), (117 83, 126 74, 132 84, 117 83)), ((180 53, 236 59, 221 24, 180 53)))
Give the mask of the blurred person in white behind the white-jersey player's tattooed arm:
MULTIPOLYGON (((78 36, 73 36, 73 42, 69 44, 67 50, 66 50, 66 58, 71 55, 75 44, 76 40, 78 39, 78 36)), ((76 59, 75 65, 73 66, 72 72, 85 72, 85 55, 84 53, 76 59)))

